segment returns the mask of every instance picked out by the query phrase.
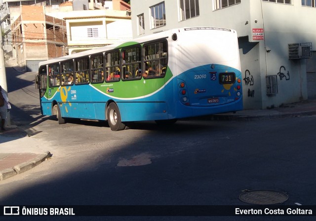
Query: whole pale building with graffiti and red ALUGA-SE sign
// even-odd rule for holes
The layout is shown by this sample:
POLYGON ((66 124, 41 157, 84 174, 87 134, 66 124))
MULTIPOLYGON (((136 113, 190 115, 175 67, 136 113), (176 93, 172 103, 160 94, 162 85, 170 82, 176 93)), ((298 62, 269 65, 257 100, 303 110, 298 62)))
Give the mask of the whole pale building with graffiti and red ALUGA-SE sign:
POLYGON ((274 108, 316 97, 315 3, 131 0, 133 37, 180 27, 236 30, 244 109, 274 108))

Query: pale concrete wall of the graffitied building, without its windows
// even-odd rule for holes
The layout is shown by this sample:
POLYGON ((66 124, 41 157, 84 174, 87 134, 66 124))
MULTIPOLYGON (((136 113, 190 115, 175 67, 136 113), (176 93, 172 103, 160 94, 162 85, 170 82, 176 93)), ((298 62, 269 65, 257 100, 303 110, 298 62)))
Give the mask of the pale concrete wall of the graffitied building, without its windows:
MULTIPOLYGON (((288 44, 312 42, 316 45, 315 7, 265 0, 241 0, 216 9, 216 0, 199 0, 199 15, 180 20, 179 0, 131 0, 133 37, 138 35, 138 16, 144 16, 144 35, 180 27, 212 26, 237 31, 243 73, 245 109, 270 108, 308 98, 306 69, 314 69, 307 59, 289 60, 288 44), (150 7, 164 2, 166 25, 153 28, 150 7), (255 29, 262 39, 253 39, 255 29), (245 41, 245 38, 247 41, 245 41), (267 95, 266 77, 277 76, 278 92, 267 95), (248 80, 249 77, 249 80, 248 80), (252 85, 250 81, 252 80, 252 85)), ((143 35, 140 35, 143 36, 143 35)))

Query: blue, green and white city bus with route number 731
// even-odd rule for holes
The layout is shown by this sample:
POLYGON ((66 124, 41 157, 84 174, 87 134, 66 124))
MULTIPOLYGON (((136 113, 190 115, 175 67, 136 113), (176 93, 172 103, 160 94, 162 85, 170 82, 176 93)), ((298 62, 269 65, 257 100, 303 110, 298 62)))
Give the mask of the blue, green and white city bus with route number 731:
POLYGON ((40 62, 37 83, 43 115, 125 122, 242 110, 237 33, 196 27, 40 62))

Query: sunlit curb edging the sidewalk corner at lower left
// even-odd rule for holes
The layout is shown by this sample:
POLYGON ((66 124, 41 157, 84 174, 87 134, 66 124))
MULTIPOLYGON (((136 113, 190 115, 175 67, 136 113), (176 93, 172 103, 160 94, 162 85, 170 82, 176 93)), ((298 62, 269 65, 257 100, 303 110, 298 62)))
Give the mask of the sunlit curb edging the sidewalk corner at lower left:
POLYGON ((13 168, 8 168, 0 171, 0 181, 13 177, 17 174, 24 173, 28 170, 31 170, 33 167, 38 166, 41 162, 45 161, 46 159, 50 158, 52 155, 49 151, 39 154, 36 158, 20 163, 13 168))

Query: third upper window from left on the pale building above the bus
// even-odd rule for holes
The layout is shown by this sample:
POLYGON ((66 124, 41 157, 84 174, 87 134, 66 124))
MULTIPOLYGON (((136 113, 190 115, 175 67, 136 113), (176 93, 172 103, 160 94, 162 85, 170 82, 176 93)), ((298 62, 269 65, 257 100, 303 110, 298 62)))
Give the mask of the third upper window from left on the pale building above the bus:
POLYGON ((180 0, 180 21, 199 15, 198 0, 180 0))

